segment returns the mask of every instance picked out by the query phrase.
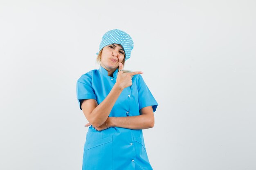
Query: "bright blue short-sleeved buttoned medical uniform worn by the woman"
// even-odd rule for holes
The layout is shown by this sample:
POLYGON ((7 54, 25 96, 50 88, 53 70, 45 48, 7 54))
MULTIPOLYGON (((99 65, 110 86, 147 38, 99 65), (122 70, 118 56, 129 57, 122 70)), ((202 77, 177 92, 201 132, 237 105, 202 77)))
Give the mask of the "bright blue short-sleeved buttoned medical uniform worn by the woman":
MULTIPOLYGON (((81 75, 77 80, 76 94, 81 109, 83 99, 95 99, 100 104, 116 82, 118 69, 113 77, 100 66, 81 75)), ((132 77, 132 86, 124 88, 113 106, 109 117, 140 115, 139 110, 158 104, 142 76, 132 77)), ((82 110, 82 109, 81 109, 82 110)), ((83 152, 83 170, 153 170, 151 167, 142 130, 110 127, 97 131, 89 126, 83 152)))

